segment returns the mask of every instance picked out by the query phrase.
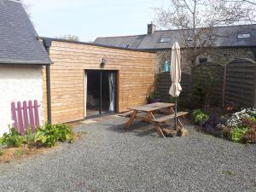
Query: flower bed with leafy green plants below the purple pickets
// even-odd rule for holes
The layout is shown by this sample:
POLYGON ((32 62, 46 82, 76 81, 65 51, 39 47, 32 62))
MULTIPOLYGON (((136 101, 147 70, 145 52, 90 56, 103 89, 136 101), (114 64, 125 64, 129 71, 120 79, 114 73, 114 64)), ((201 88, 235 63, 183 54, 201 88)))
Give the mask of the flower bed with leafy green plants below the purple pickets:
POLYGON ((0 137, 0 163, 25 159, 34 154, 42 154, 58 142, 73 143, 82 133, 74 133, 70 125, 49 125, 38 127, 35 133, 31 129, 21 136, 15 128, 0 137))

